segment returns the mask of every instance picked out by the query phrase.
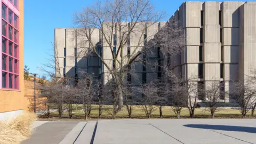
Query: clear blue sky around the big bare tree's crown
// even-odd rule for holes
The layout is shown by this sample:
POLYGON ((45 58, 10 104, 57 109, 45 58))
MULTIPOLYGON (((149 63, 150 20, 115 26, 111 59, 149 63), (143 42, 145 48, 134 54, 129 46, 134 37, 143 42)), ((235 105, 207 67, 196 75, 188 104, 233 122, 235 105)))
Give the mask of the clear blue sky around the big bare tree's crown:
MULTIPOLYGON (((151 0, 157 10, 165 10, 170 16, 179 8, 181 0, 151 0)), ((221 1, 220 1, 221 2, 221 1)), ((47 62, 47 51, 52 49, 54 28, 73 27, 73 14, 93 0, 44 0, 24 2, 24 65, 30 73, 42 75, 37 67, 47 62)), ((169 17, 170 18, 170 17, 169 17)), ((166 18, 169 19, 169 18, 166 18)))

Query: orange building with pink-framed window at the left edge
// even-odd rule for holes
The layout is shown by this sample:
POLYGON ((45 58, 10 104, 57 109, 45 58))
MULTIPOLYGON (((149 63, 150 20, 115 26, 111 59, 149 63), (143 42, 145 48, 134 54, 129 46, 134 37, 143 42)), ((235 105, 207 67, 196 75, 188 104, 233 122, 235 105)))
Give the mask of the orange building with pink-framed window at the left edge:
POLYGON ((23 111, 23 0, 1 1, 0 119, 23 111))

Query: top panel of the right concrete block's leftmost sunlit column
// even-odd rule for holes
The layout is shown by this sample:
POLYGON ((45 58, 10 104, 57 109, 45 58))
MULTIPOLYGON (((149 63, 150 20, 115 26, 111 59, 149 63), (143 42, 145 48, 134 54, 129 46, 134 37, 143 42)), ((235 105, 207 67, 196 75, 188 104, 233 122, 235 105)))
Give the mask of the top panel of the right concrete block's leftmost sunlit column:
POLYGON ((185 2, 186 27, 201 27, 201 2, 185 2))

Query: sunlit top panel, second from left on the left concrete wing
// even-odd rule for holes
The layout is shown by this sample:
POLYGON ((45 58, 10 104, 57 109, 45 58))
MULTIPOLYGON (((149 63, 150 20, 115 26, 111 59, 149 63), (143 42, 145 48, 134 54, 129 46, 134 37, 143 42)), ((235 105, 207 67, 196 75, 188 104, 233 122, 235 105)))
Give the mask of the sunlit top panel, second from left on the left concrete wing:
POLYGON ((75 47, 76 47, 76 34, 75 29, 67 28, 66 29, 66 49, 67 49, 67 56, 74 56, 75 55, 75 47))

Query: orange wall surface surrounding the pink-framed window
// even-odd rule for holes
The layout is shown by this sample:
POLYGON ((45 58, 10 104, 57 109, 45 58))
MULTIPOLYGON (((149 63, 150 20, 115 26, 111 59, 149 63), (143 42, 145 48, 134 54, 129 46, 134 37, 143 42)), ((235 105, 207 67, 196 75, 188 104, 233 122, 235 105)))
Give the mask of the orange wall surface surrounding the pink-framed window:
POLYGON ((19 0, 19 91, 0 90, 0 113, 6 111, 22 110, 24 99, 24 79, 23 79, 23 50, 24 50, 24 30, 23 30, 23 0, 19 0))

